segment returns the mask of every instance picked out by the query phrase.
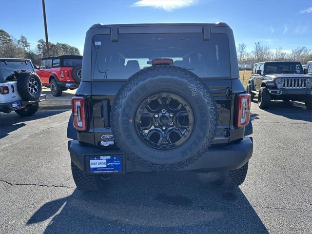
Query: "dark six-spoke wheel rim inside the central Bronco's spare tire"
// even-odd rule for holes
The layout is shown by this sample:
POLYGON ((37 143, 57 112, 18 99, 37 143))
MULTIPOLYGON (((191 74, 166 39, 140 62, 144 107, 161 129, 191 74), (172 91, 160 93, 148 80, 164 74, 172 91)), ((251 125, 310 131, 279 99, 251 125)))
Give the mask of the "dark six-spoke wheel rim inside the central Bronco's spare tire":
POLYGON ((145 143, 156 149, 172 149, 192 134, 194 114, 179 95, 158 93, 142 102, 135 121, 137 133, 145 143))

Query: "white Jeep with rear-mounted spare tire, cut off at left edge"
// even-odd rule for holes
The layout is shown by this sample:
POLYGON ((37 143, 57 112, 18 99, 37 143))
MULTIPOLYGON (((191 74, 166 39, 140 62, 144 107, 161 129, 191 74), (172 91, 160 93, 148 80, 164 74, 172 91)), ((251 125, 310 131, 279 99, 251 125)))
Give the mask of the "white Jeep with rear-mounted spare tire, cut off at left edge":
POLYGON ((29 59, 0 58, 0 112, 31 116, 38 111, 41 80, 29 59))

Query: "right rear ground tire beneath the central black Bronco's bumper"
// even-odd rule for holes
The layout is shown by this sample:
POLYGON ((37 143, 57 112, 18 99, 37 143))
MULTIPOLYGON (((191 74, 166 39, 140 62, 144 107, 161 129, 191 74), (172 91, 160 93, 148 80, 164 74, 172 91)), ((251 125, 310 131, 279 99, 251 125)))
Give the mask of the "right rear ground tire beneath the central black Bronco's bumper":
POLYGON ((241 185, 247 176, 248 162, 241 168, 225 172, 210 172, 212 182, 219 187, 237 187, 241 185))

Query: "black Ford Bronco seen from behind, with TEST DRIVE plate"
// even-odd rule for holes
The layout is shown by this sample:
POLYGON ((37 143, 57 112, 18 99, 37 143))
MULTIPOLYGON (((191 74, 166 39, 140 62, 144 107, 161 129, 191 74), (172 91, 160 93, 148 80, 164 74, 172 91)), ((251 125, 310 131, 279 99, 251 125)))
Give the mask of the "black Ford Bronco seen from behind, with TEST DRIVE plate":
POLYGON ((130 172, 212 173, 221 186, 246 177, 250 95, 225 23, 93 25, 72 107, 78 189, 130 172))

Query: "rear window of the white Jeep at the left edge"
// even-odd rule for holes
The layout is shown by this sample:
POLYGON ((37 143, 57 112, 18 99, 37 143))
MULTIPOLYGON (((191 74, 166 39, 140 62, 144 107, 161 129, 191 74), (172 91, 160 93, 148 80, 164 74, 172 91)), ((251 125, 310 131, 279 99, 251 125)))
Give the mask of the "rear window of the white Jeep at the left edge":
POLYGON ((16 79, 15 74, 20 72, 34 72, 30 62, 25 61, 7 61, 0 62, 1 74, 6 80, 16 79))

